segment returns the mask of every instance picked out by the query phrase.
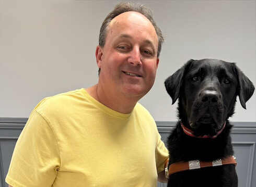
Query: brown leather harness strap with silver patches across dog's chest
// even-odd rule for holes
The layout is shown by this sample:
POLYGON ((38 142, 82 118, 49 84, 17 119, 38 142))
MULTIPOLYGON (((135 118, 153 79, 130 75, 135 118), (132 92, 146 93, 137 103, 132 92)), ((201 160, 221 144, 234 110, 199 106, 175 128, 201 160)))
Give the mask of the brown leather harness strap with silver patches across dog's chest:
POLYGON ((233 164, 237 165, 236 158, 234 156, 229 156, 224 159, 218 159, 214 161, 200 161, 200 160, 190 160, 185 162, 178 162, 173 163, 168 168, 168 163, 166 163, 166 178, 169 178, 169 176, 173 173, 185 171, 185 170, 193 170, 193 169, 200 169, 205 167, 215 167, 215 166, 222 166, 222 165, 228 165, 233 164))

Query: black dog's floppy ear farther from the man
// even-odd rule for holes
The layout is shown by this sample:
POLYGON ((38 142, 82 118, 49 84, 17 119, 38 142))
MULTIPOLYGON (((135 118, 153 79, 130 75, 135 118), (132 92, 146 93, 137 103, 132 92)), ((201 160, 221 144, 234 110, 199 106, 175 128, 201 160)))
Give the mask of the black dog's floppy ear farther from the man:
POLYGON ((234 64, 234 71, 238 82, 237 95, 239 96, 240 103, 243 108, 246 109, 246 102, 252 96, 254 92, 254 85, 248 79, 248 77, 243 74, 243 72, 234 64))

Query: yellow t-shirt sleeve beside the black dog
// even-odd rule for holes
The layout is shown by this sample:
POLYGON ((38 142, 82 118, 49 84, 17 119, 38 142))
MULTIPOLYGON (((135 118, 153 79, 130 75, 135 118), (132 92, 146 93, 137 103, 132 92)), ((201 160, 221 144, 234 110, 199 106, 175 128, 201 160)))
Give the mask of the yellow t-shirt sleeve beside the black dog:
POLYGON ((156 146, 156 164, 157 164, 157 173, 164 171, 165 162, 169 159, 169 152, 166 148, 164 142, 161 140, 161 135, 158 133, 158 143, 156 146))

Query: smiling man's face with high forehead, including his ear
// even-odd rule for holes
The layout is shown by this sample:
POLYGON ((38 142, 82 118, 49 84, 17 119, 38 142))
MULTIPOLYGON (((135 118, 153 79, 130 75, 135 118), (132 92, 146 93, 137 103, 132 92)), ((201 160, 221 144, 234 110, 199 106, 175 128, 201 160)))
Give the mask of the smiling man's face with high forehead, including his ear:
POLYGON ((114 94, 143 97, 155 81, 157 49, 155 28, 145 16, 129 11, 115 17, 104 47, 96 49, 99 84, 114 94))

